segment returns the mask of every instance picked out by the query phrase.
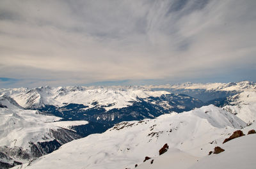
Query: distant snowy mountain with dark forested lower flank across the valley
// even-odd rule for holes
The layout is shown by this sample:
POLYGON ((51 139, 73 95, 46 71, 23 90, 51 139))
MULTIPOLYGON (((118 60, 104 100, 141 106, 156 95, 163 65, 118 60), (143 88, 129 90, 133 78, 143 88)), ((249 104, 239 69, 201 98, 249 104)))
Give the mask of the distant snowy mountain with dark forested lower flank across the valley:
POLYGON ((202 107, 184 94, 150 91, 143 87, 38 87, 1 89, 0 94, 27 109, 40 110, 66 120, 116 124, 154 118, 170 112, 202 107))

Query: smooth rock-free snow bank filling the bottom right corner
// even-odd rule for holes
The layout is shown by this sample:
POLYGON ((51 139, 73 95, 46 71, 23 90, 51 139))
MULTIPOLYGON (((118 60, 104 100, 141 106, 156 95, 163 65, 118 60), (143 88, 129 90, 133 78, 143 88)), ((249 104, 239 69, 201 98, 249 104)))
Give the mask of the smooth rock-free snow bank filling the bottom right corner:
POLYGON ((256 166, 255 142, 255 134, 231 140, 221 146, 224 152, 202 158, 189 169, 253 169, 256 166))

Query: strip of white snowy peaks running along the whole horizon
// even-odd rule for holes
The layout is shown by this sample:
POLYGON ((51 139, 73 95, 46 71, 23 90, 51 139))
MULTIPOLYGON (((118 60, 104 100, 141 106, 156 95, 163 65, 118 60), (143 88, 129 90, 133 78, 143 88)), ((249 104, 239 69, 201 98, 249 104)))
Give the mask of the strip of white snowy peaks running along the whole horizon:
MULTIPOLYGON (((122 108, 131 105, 131 101, 138 101, 138 98, 159 97, 162 94, 170 94, 170 92, 180 90, 195 90, 200 89, 204 91, 255 91, 255 82, 236 82, 236 83, 213 83, 213 84, 193 84, 187 82, 179 85, 159 85, 159 86, 144 86, 144 87, 36 87, 34 89, 0 89, 1 95, 10 96, 21 107, 24 108, 38 108, 45 105, 54 105, 62 107, 65 103, 77 103, 94 107, 97 102, 99 105, 105 107, 106 110, 113 108, 122 108), (166 91, 156 91, 154 89, 165 89, 166 91), (153 91, 152 91, 153 89, 153 91), (168 89, 168 90, 167 90, 168 89), (170 91, 170 92, 168 92, 170 91)), ((177 92, 175 92, 177 93, 177 92)), ((179 92, 178 92, 179 93, 179 92)), ((182 92, 180 92, 182 93, 182 92)), ((186 92, 184 92, 186 94, 186 92)), ((189 95, 189 92, 188 92, 189 95)), ((193 95, 189 95, 196 98, 193 95)), ((225 94, 220 94, 225 96, 225 94)), ((230 95, 229 95, 230 96, 230 95)), ((214 98, 214 94, 212 96, 214 98)), ((202 101, 207 98, 198 98, 202 101)))

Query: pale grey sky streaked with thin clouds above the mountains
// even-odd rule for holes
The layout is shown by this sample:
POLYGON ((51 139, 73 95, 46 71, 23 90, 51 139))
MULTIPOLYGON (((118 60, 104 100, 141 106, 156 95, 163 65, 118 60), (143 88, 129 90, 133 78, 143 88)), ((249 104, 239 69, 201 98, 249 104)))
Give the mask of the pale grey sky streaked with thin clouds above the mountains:
POLYGON ((255 0, 0 1, 0 87, 256 81, 255 0))

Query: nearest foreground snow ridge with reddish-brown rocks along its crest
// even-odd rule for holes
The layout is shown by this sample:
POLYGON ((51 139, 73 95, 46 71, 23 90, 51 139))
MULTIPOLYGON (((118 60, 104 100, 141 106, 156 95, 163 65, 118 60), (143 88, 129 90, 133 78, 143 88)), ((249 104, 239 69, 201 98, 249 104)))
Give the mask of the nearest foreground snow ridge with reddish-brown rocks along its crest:
MULTIPOLYGON (((252 126, 243 129, 243 133, 247 134, 250 129, 256 128, 256 123, 252 126)), ((245 135, 234 140, 230 140, 227 143, 220 143, 224 152, 220 154, 211 154, 211 156, 205 156, 204 158, 196 158, 186 152, 182 152, 179 149, 169 149, 161 156, 153 158, 151 160, 138 165, 136 169, 150 169, 150 168, 173 168, 173 169, 205 169, 205 168, 223 168, 223 169, 236 169, 236 168, 255 168, 255 145, 256 135, 245 135)))

